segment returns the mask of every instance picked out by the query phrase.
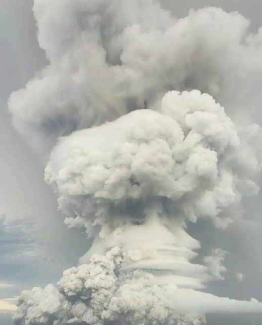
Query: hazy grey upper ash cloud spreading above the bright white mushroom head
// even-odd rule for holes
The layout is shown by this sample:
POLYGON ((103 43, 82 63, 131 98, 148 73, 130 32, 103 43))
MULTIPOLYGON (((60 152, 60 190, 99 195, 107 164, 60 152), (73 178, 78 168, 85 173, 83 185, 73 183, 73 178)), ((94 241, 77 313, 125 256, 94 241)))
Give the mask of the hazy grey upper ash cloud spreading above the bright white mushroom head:
POLYGON ((9 107, 44 156, 57 137, 152 108, 168 90, 200 89, 238 117, 258 107, 261 33, 238 13, 177 20, 152 0, 35 0, 33 11, 50 64, 9 107))

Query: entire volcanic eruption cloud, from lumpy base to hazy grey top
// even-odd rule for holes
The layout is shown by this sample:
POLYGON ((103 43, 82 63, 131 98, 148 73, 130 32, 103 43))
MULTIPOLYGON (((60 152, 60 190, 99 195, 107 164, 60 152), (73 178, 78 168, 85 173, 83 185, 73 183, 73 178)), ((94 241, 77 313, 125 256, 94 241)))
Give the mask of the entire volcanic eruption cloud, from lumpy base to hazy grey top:
POLYGON ((21 294, 15 323, 202 325, 205 313, 262 312, 201 291, 223 279, 226 252, 196 264, 186 233, 199 219, 227 228, 259 191, 260 127, 252 109, 243 117, 260 34, 237 13, 176 20, 151 0, 35 0, 34 14, 50 65, 10 110, 49 160, 65 223, 93 244, 56 286, 21 294))

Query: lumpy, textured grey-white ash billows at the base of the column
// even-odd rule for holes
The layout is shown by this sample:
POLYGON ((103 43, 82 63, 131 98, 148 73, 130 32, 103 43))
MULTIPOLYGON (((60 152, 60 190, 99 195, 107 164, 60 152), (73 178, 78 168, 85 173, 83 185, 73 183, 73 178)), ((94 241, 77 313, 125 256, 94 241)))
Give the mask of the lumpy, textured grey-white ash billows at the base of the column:
POLYGON ((15 324, 205 324, 204 316, 174 312, 166 289, 154 284, 152 274, 136 270, 118 276, 122 262, 123 254, 115 247, 93 255, 88 265, 64 271, 56 286, 23 291, 15 324))

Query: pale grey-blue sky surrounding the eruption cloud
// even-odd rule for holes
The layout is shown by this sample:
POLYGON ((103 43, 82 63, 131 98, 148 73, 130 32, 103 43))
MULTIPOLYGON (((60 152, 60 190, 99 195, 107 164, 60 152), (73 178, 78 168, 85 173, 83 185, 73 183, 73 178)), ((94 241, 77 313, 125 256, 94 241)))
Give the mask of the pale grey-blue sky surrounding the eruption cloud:
MULTIPOLYGON (((251 20, 252 30, 262 25, 259 0, 162 0, 161 3, 177 17, 187 15, 192 8, 208 5, 240 12, 251 20)), ((68 231, 63 225, 56 198, 44 182, 42 162, 16 133, 7 109, 10 93, 25 85, 47 63, 36 39, 32 0, 0 0, 0 8, 0 323, 9 325, 15 298, 21 290, 55 283, 65 268, 77 264, 89 243, 83 232, 68 231)), ((251 209, 253 213, 256 210, 255 206, 251 209)), ((231 253, 239 254, 239 258, 226 257, 231 271, 226 281, 212 284, 210 291, 221 296, 231 293, 232 298, 255 296, 262 300, 262 283, 255 272, 256 267, 262 270, 260 249, 252 247, 252 241, 241 230, 252 226, 251 223, 239 225, 238 231, 229 229, 226 235, 212 230, 204 236, 204 241, 211 246, 216 245, 218 238, 221 242, 224 236, 224 247, 220 248, 230 245, 231 253), (243 236, 239 238, 241 232, 243 236), (229 234, 231 240, 227 242, 229 234), (243 245, 243 241, 250 241, 250 245, 243 245), (243 250, 246 250, 244 257, 240 254, 243 250), (249 278, 239 283, 235 277, 237 272, 249 274, 249 278)), ((253 228, 254 238, 259 238, 262 228, 253 228)), ((203 238, 205 225, 191 225, 189 231, 196 238, 203 238)), ((262 318, 213 315, 208 317, 208 324, 246 325, 250 320, 256 325, 262 318)))

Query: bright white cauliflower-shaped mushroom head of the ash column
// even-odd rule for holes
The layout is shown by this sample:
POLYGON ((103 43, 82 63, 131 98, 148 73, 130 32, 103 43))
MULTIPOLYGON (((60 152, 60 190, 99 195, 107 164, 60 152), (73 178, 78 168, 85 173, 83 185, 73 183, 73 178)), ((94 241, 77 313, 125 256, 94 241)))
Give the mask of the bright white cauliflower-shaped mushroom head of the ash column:
POLYGON ((136 110, 60 139, 46 180, 66 222, 88 231, 141 223, 152 210, 223 227, 232 222, 224 210, 258 190, 259 163, 247 152, 251 144, 210 95, 171 91, 158 111, 136 110))

